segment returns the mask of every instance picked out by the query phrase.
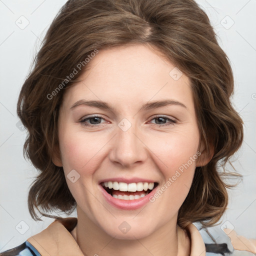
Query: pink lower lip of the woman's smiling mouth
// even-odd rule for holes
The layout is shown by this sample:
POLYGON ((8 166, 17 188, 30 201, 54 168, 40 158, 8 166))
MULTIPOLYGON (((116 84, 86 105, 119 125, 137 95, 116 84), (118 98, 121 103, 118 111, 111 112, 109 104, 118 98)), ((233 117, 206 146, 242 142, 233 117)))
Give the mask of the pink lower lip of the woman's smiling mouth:
POLYGON ((108 203, 115 206, 116 208, 124 209, 124 210, 135 210, 135 209, 138 209, 138 208, 144 206, 147 202, 149 202, 149 197, 154 194, 154 192, 157 188, 157 186, 156 186, 150 193, 148 193, 147 195, 145 195, 139 199, 123 200, 123 199, 114 198, 101 185, 99 185, 99 186, 100 186, 100 189, 108 203))

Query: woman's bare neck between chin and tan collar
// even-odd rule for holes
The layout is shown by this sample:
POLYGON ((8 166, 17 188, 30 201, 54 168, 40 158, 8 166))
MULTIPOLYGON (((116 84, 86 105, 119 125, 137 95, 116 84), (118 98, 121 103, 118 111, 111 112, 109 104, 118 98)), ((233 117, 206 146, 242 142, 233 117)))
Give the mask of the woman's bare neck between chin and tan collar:
POLYGON ((140 239, 116 239, 79 213, 77 209, 77 225, 71 234, 84 255, 189 255, 190 240, 186 232, 176 225, 176 219, 140 239))

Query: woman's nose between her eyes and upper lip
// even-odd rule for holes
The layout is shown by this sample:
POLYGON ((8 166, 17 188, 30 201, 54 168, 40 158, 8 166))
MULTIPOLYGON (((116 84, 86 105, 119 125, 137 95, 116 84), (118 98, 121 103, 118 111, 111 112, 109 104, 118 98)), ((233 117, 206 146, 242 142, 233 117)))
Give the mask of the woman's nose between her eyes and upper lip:
MULTIPOLYGON (((125 125, 128 125, 127 121, 125 125)), ((129 125, 131 126, 127 130, 121 125, 116 127, 109 159, 115 164, 130 168, 146 160, 147 147, 136 125, 134 123, 129 125)))

